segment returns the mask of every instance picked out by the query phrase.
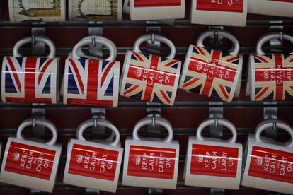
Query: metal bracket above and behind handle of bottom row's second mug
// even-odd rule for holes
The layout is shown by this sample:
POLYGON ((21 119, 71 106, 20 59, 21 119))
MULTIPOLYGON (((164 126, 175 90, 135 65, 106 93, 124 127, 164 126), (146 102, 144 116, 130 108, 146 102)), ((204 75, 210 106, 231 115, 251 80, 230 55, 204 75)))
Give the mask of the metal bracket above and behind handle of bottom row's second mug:
POLYGON ((93 129, 91 130, 92 138, 105 138, 106 131, 105 126, 98 126, 97 121, 98 119, 105 119, 105 108, 92 108, 91 115, 93 118, 93 129))

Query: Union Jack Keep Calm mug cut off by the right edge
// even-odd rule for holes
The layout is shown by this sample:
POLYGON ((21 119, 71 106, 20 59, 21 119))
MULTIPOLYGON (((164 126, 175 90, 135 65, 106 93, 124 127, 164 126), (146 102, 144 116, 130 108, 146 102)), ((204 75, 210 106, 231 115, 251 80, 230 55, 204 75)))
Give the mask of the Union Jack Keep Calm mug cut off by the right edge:
MULTIPOLYGON (((252 101, 293 100, 293 52, 265 54, 262 49, 265 42, 278 38, 279 33, 260 37, 256 54, 251 54, 246 95, 250 95, 252 101)), ((282 38, 293 44, 293 37, 284 34, 282 38)))

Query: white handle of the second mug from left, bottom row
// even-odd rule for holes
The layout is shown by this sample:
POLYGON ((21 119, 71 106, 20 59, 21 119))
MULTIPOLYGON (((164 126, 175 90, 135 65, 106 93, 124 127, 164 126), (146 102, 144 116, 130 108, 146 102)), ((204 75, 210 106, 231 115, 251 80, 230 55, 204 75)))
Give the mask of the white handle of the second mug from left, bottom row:
MULTIPOLYGON (((84 138, 84 131, 86 129, 88 129, 88 127, 94 126, 94 125, 95 124, 93 122, 93 119, 89 119, 89 120, 83 122, 82 124, 80 124, 79 127, 77 128, 77 131, 76 131, 76 138, 81 141, 86 141, 86 139, 84 138)), ((97 125, 98 126, 105 126, 113 131, 113 133, 115 134, 115 141, 113 141, 113 143, 111 143, 110 146, 117 147, 118 144, 120 143, 120 133, 119 133, 118 129, 116 128, 116 126, 114 126, 108 120, 105 120, 105 119, 97 119, 97 125)), ((111 134, 109 140, 112 138, 113 138, 113 134, 111 134)))

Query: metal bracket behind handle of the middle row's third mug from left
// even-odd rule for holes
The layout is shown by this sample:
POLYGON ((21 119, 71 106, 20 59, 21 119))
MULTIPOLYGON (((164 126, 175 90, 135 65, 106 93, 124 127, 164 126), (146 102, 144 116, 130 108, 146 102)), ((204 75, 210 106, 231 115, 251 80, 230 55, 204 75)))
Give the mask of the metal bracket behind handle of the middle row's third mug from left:
POLYGON ((156 35, 161 34, 161 23, 156 21, 146 21, 146 33, 151 34, 151 40, 146 42, 146 51, 150 54, 160 55, 161 42, 154 40, 156 35))

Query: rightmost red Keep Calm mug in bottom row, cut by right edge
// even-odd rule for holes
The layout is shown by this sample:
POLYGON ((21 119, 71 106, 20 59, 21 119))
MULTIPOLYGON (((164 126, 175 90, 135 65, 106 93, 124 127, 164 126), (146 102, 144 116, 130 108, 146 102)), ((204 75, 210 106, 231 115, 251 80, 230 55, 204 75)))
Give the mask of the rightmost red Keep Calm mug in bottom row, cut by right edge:
POLYGON ((254 140, 248 141, 241 185, 293 194, 293 129, 285 122, 268 120, 258 125, 254 140), (289 143, 276 143, 260 134, 273 127, 289 133, 289 143))

